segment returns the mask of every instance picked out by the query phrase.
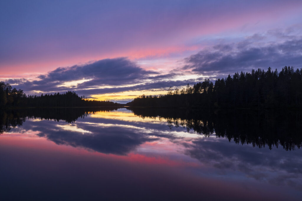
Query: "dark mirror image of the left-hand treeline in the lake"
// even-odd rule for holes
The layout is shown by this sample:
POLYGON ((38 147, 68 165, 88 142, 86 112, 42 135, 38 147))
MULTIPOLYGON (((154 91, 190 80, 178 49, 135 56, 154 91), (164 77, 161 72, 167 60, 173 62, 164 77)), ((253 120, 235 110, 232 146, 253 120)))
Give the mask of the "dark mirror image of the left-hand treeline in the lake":
POLYGON ((45 119, 53 121, 75 122, 98 111, 114 111, 118 107, 103 108, 30 108, 16 110, 0 110, 0 134, 8 132, 12 127, 21 126, 26 119, 45 119))

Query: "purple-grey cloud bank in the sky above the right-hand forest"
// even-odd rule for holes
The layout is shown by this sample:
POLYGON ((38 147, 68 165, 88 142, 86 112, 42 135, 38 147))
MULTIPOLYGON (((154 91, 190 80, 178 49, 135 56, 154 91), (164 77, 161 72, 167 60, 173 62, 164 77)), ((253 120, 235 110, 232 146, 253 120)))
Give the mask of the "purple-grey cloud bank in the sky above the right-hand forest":
POLYGON ((191 69, 204 75, 225 75, 237 71, 250 71, 253 68, 280 69, 286 65, 302 67, 302 38, 281 43, 266 43, 262 46, 256 46, 251 40, 254 40, 254 37, 202 50, 185 58, 186 65, 182 69, 191 69))

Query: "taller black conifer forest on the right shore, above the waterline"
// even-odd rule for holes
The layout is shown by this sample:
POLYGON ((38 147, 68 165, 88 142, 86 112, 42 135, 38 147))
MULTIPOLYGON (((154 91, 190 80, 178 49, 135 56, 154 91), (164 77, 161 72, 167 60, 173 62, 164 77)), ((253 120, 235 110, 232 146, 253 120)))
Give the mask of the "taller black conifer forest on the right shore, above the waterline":
POLYGON ((231 77, 169 88, 163 96, 139 96, 128 106, 193 108, 302 108, 302 68, 285 66, 280 72, 258 69, 231 77))

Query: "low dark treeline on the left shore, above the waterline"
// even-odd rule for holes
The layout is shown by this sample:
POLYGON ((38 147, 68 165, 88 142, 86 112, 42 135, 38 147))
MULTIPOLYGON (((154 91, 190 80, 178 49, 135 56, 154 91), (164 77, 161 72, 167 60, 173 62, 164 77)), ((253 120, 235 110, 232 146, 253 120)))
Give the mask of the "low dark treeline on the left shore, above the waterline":
POLYGON ((23 90, 12 89, 8 83, 0 82, 0 108, 5 107, 95 107, 119 106, 111 101, 88 100, 75 92, 26 96, 23 90))

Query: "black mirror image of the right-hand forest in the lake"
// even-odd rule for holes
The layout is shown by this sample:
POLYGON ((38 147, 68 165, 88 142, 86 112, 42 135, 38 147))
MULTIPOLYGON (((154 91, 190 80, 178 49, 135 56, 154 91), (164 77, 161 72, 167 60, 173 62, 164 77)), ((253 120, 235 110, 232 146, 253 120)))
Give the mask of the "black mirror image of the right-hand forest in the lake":
POLYGON ((225 137, 236 143, 259 148, 283 146, 292 150, 302 146, 302 112, 272 110, 190 110, 168 108, 128 108, 141 118, 163 118, 168 126, 185 127, 209 137, 225 137))

